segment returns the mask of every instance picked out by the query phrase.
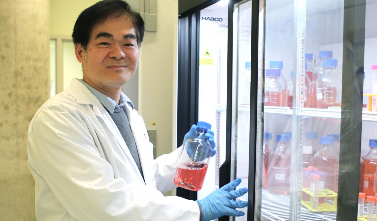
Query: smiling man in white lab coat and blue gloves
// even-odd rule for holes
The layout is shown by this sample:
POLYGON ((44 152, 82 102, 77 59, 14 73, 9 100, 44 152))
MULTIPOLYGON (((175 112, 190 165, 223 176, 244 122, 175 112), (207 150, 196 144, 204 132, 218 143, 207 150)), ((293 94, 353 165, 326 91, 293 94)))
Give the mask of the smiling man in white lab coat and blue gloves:
MULTIPOLYGON (((126 2, 85 9, 72 34, 83 79, 50 98, 28 131, 38 220, 211 220, 244 215, 241 181, 197 202, 171 190, 182 147, 153 160, 143 119, 121 87, 135 74, 144 22, 126 2)), ((185 140, 195 136, 195 125, 185 140)), ((213 132, 206 138, 214 147, 213 132)))

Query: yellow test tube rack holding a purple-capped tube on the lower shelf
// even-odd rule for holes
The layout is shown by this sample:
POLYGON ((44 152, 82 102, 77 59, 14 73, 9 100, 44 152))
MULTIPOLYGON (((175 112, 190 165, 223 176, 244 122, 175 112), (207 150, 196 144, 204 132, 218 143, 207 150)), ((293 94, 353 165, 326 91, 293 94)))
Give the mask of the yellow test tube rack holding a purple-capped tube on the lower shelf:
POLYGON ((319 190, 318 195, 314 196, 310 191, 310 188, 302 187, 301 190, 305 193, 308 193, 308 195, 310 196, 310 201, 301 201, 301 204, 307 207, 309 212, 336 212, 338 198, 338 194, 336 192, 326 188, 325 190, 319 190), (323 203, 318 204, 317 209, 313 209, 313 197, 334 198, 334 205, 331 205, 324 201, 323 203))

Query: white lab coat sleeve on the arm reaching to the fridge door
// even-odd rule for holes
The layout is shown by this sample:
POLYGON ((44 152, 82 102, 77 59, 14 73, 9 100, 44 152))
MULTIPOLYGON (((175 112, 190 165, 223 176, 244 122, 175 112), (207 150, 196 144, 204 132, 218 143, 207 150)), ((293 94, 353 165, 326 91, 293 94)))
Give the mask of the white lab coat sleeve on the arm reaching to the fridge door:
MULTIPOLYGON (((156 189, 114 178, 79 110, 50 104, 28 132, 28 165, 80 221, 199 220, 195 201, 165 197, 156 189)), ((51 219, 50 219, 51 220, 51 219)))

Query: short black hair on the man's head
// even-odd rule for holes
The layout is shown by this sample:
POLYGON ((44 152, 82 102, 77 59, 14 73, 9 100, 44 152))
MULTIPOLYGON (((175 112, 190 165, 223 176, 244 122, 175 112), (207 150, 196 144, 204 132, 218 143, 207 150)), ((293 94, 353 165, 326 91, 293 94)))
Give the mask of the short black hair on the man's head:
POLYGON ((118 18, 122 15, 126 15, 131 19, 136 31, 136 42, 140 48, 144 37, 144 20, 138 12, 123 0, 103 0, 81 12, 73 28, 73 42, 80 43, 86 50, 90 34, 95 25, 103 23, 109 16, 118 18))

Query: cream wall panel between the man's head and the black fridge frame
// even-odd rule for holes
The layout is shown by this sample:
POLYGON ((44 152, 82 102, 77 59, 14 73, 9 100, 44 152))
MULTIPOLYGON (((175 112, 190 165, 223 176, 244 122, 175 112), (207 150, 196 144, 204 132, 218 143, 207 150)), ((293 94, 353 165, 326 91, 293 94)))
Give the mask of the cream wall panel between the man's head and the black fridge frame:
POLYGON ((175 149, 177 35, 178 1, 158 1, 157 32, 145 32, 141 45, 138 110, 157 130, 157 155, 175 149))

